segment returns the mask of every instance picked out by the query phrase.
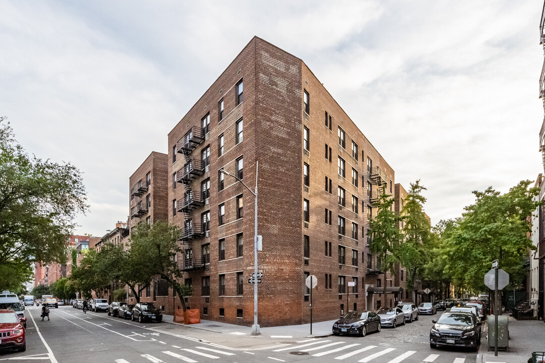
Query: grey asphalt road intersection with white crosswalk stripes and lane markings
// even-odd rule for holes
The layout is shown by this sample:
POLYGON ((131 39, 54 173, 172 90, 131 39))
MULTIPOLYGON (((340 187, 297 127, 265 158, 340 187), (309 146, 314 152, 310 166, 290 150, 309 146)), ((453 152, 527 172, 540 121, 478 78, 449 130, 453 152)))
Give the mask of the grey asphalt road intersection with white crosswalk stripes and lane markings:
MULTIPOLYGON (((365 337, 329 336, 322 339, 274 339, 234 336, 177 324, 131 322, 60 306, 50 321, 41 321, 40 307, 27 307, 26 352, 0 352, 0 361, 87 362, 336 362, 473 363, 476 353, 464 349, 431 349, 431 320, 365 337)), ((484 336, 484 335, 483 335, 484 336)))

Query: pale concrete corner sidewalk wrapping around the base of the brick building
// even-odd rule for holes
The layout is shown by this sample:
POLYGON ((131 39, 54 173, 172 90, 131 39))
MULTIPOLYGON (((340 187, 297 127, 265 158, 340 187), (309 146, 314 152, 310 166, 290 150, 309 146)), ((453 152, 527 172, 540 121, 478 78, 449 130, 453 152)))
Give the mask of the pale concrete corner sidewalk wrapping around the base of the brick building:
MULTIPOLYGON (((282 327, 260 328, 262 337, 273 338, 306 338, 306 337, 323 337, 331 335, 331 328, 337 319, 312 323, 312 335, 310 334, 310 324, 302 325, 284 325, 282 327)), ((169 324, 184 325, 184 327, 215 331, 216 333, 226 333, 233 335, 251 336, 252 327, 244 327, 243 325, 234 325, 209 320, 201 320, 199 324, 180 324, 174 323, 172 315, 163 314, 163 322, 169 324)), ((545 324, 543 324, 545 325, 545 324)))

